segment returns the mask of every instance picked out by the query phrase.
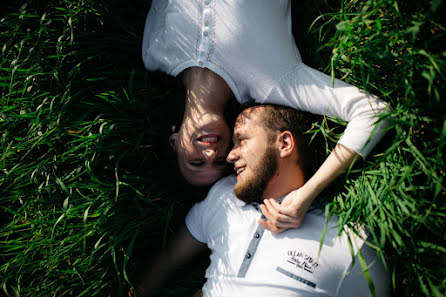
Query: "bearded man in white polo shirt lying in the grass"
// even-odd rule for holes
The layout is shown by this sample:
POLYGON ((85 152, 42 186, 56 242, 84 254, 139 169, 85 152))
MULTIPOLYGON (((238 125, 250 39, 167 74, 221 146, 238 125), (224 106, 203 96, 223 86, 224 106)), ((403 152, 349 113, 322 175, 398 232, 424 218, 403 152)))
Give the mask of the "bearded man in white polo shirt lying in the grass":
POLYGON ((265 217, 259 203, 274 198, 265 203, 279 204, 305 183, 305 117, 273 105, 239 115, 227 157, 237 176, 223 178, 193 206, 186 227, 152 268, 138 297, 206 245, 212 253, 203 296, 386 295, 387 274, 364 243, 363 230, 345 228, 338 237, 336 221, 326 223, 320 211, 309 212, 299 229, 280 234, 260 225, 265 217))

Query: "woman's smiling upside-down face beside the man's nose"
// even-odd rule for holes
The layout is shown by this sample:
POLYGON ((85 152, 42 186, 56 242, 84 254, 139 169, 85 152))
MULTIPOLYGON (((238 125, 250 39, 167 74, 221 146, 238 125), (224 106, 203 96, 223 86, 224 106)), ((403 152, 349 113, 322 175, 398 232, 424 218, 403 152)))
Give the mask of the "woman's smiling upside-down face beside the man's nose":
POLYGON ((170 142, 187 182, 208 186, 222 177, 231 142, 224 118, 207 114, 199 119, 183 119, 178 133, 170 136, 170 142))

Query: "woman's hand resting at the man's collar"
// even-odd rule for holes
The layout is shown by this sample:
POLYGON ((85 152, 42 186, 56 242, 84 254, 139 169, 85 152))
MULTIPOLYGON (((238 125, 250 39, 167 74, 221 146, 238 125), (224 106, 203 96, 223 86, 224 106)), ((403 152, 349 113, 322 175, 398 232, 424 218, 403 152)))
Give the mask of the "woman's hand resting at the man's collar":
POLYGON ((259 220, 259 224, 272 233, 299 228, 313 201, 312 197, 305 197, 305 191, 302 188, 289 193, 281 204, 275 199, 263 200, 264 204, 260 205, 260 209, 267 221, 259 220))

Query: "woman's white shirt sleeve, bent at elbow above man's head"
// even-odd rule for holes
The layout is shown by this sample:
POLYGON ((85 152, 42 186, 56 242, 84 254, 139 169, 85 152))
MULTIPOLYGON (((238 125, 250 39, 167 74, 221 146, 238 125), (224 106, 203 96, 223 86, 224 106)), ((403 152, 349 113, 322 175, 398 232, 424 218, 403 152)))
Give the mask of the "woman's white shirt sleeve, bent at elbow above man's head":
POLYGON ((300 63, 286 73, 265 102, 290 106, 348 122, 339 143, 365 158, 384 136, 387 124, 375 123, 387 103, 348 83, 300 63))

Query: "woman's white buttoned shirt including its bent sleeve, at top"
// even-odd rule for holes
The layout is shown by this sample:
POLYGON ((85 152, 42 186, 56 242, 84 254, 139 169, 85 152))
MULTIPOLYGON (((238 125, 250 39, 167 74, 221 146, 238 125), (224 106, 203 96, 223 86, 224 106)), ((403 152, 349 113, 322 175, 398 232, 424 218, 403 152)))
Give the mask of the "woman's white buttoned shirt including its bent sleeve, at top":
POLYGON ((341 118, 348 125, 339 143, 364 158, 384 134, 381 127, 368 142, 386 103, 303 64, 290 11, 289 0, 153 0, 144 64, 173 76, 206 67, 240 103, 255 100, 341 118))

